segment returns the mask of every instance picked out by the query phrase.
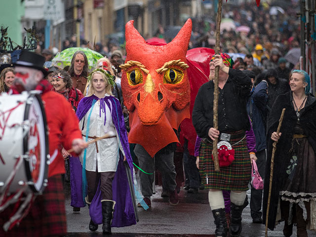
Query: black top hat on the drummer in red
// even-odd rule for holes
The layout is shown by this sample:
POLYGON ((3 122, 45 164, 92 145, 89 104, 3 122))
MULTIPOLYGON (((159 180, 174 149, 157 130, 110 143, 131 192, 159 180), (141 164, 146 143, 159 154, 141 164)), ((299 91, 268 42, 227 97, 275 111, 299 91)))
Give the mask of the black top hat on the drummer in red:
POLYGON ((47 71, 43 68, 44 63, 45 58, 40 54, 23 50, 14 66, 34 68, 40 70, 44 74, 44 76, 46 76, 47 71))

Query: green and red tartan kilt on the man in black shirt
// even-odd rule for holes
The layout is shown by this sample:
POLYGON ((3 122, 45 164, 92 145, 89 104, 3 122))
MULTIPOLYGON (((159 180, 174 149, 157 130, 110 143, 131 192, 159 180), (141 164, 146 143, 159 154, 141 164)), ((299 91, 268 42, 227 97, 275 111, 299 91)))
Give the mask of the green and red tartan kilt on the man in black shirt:
MULTIPOLYGON (((231 133, 231 145, 239 142, 244 137, 244 131, 231 133)), ((220 171, 215 171, 212 159, 213 144, 207 139, 201 140, 199 149, 199 172, 202 184, 207 189, 220 190, 248 190, 248 183, 251 180, 251 163, 247 149, 246 138, 232 146, 235 150, 235 160, 220 171), (206 175, 208 184, 206 184, 206 175)))

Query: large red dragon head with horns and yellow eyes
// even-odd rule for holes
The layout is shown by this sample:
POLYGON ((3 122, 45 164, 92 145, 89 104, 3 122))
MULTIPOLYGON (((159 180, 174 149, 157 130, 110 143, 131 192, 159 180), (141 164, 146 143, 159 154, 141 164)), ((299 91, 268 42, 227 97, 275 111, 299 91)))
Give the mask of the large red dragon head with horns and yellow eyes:
POLYGON ((146 43, 133 26, 125 26, 126 61, 121 79, 124 104, 129 114, 130 143, 142 145, 154 155, 172 142, 179 142, 178 130, 190 118, 190 83, 186 53, 192 32, 187 20, 168 44, 146 43))

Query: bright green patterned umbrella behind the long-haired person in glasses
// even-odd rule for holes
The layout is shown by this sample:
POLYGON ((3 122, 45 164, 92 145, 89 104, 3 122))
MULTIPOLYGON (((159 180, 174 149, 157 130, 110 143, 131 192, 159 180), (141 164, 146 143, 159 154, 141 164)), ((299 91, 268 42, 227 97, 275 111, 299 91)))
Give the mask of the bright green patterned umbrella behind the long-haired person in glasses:
POLYGON ((56 56, 52 59, 52 66, 57 66, 59 68, 70 66, 74 54, 79 50, 83 51, 85 56, 87 56, 90 71, 96 68, 98 59, 103 58, 102 54, 93 51, 92 49, 72 47, 66 48, 60 53, 57 53, 56 56))

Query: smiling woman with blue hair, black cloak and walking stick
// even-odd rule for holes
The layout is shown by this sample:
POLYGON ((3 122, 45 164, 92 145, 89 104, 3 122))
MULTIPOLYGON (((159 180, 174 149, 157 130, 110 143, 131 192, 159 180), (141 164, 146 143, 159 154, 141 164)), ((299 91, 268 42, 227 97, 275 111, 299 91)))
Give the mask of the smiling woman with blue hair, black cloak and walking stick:
POLYGON ((310 93, 310 77, 305 71, 293 70, 289 84, 291 91, 276 98, 268 119, 263 212, 265 219, 273 142, 278 141, 268 227, 273 230, 278 221, 284 220, 283 234, 289 237, 296 223, 297 237, 307 237, 307 227, 316 229, 316 98, 310 93), (283 108, 285 114, 277 134, 283 108))

